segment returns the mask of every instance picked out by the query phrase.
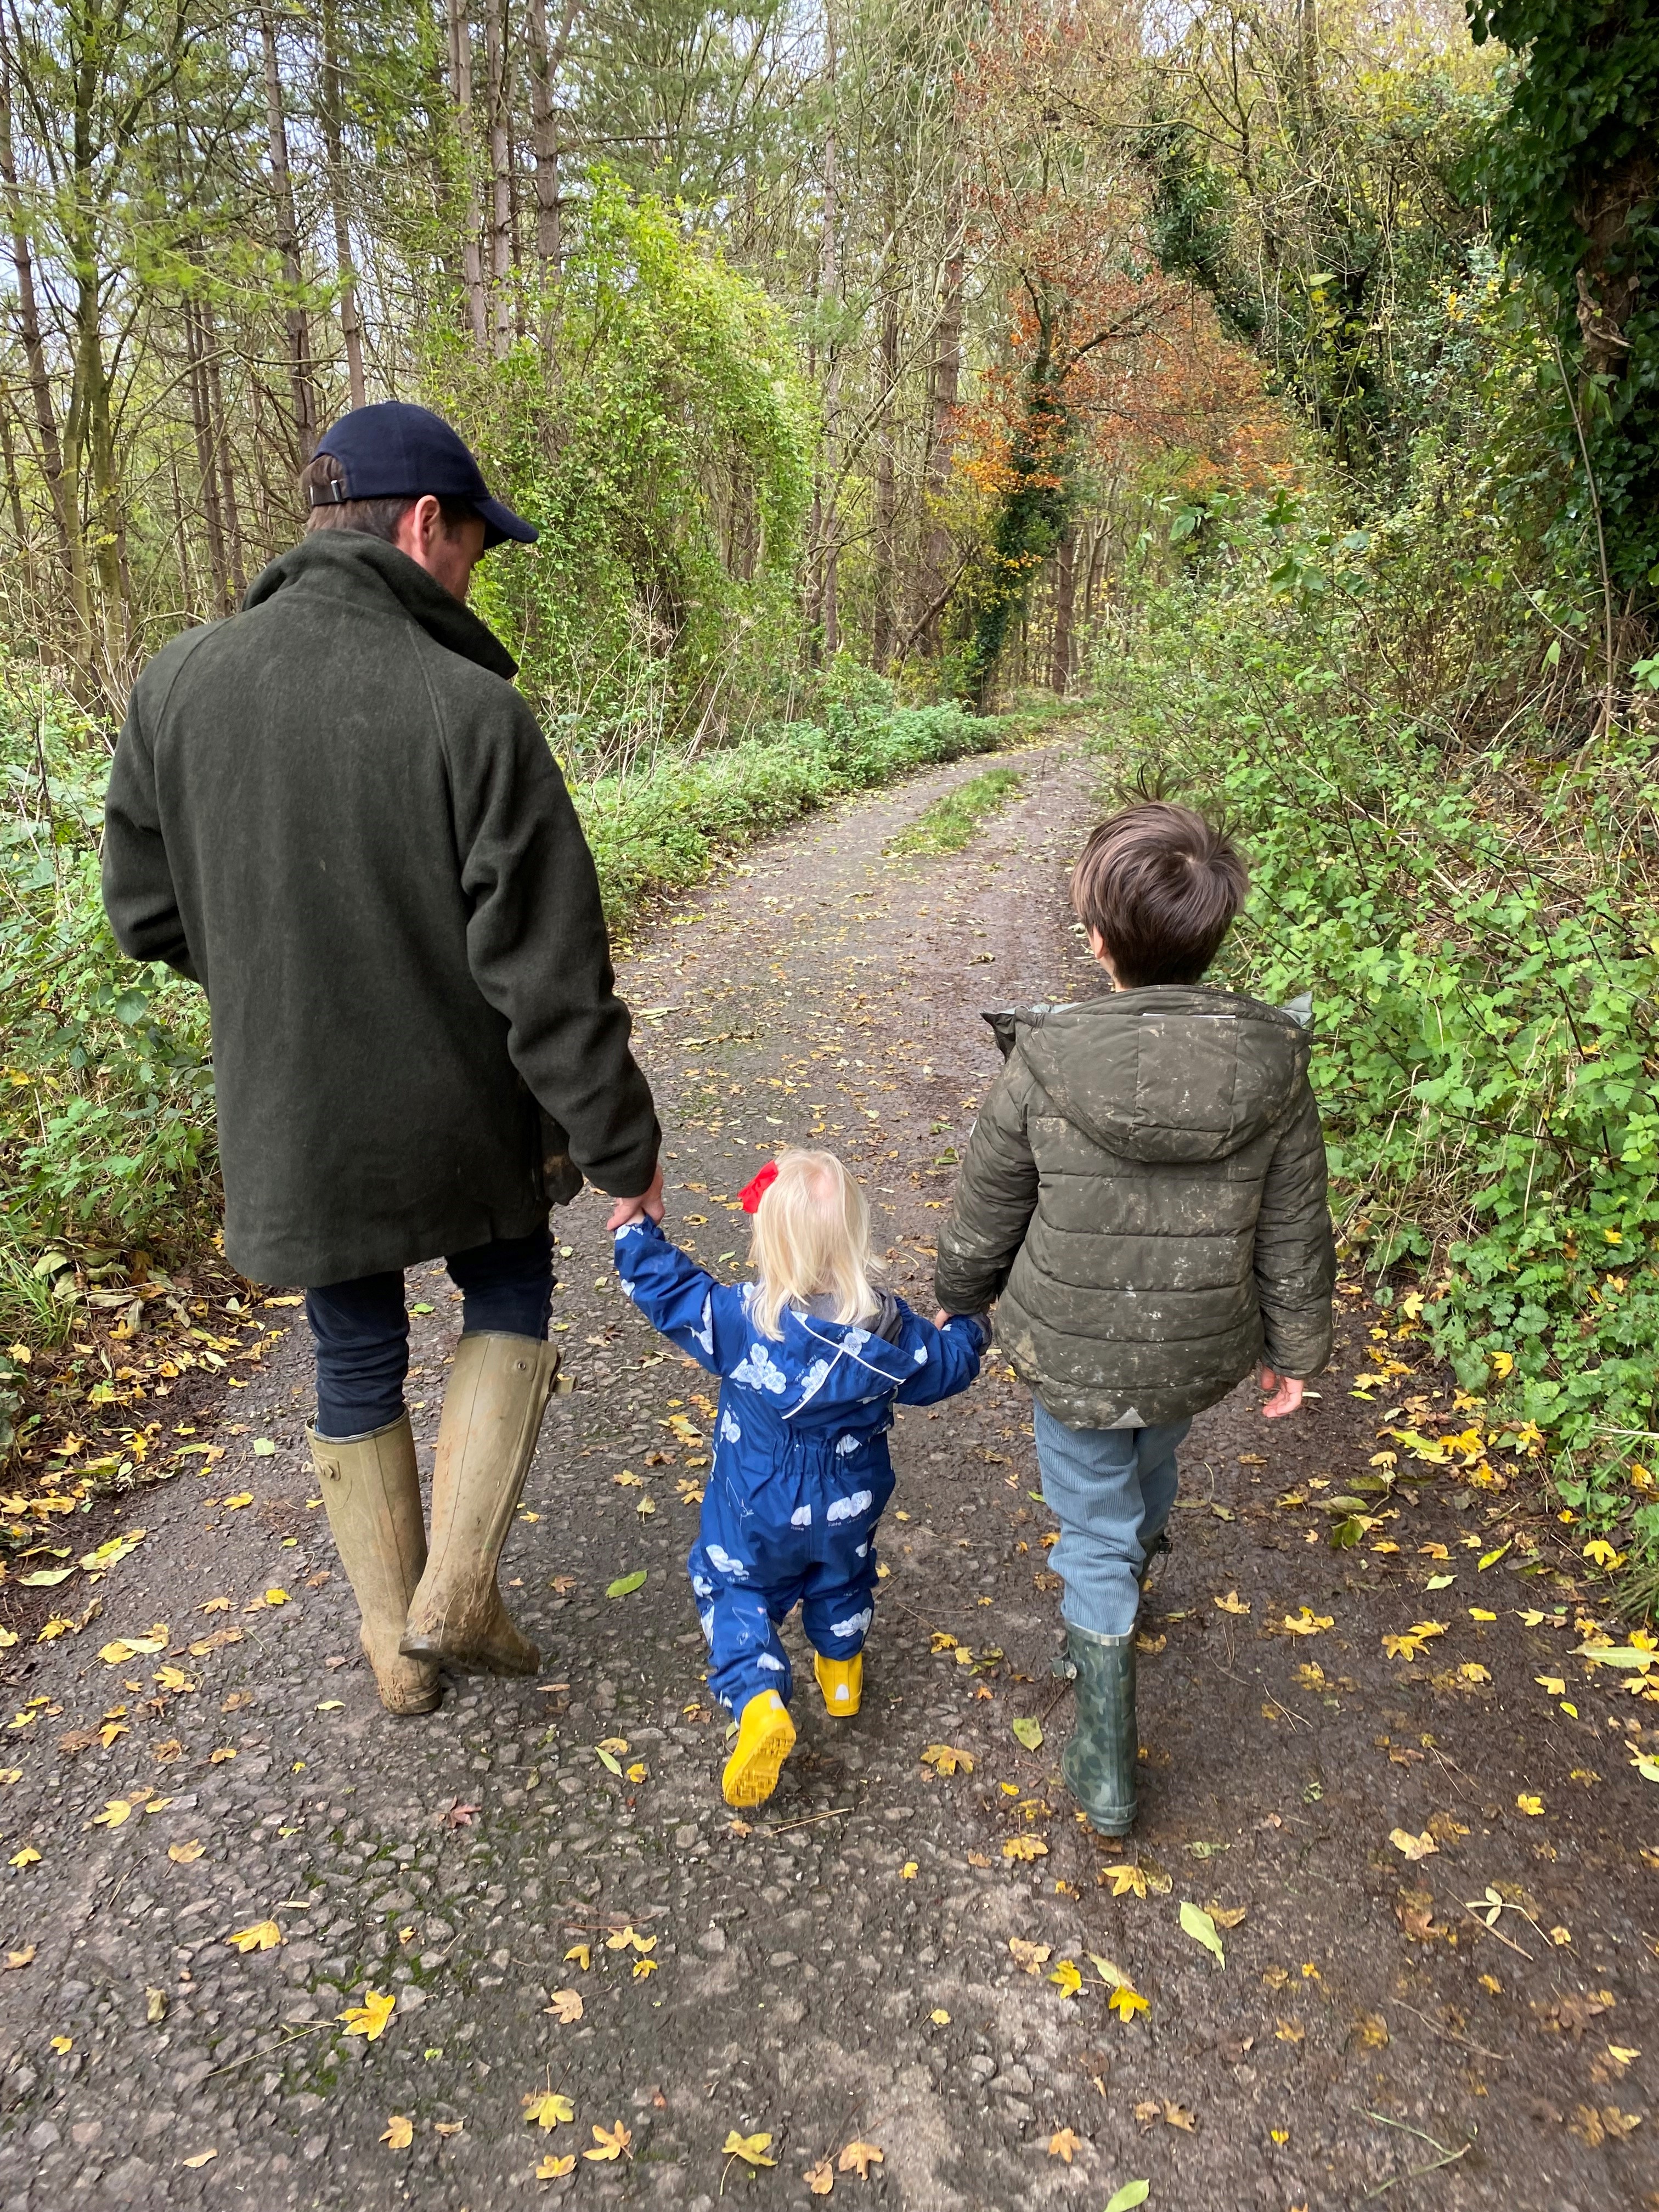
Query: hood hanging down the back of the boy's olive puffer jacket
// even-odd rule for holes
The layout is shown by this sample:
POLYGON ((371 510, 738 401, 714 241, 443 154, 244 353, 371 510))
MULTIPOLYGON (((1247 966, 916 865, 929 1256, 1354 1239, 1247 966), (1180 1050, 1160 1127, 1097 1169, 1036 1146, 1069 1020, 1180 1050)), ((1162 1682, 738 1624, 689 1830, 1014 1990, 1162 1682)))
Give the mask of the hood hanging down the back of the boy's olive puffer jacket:
POLYGON ((1296 1018, 1230 991, 1166 984, 989 1020, 1011 1020, 1053 1106, 1121 1159, 1230 1159, 1307 1073, 1296 1018))

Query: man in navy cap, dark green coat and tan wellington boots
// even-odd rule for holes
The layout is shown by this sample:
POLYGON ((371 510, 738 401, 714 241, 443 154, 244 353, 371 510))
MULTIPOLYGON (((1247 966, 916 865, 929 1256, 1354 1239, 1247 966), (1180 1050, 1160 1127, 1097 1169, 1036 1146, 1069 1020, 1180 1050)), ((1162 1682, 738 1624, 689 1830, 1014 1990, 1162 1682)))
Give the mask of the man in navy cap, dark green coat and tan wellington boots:
POLYGON ((659 1130, 571 794, 465 604, 535 531, 403 403, 301 487, 294 551, 137 679, 104 905, 208 993, 226 1254, 305 1285, 363 1648, 387 1710, 431 1712, 438 1661, 538 1668, 495 1568, 557 1371, 549 1208, 586 1175, 661 1219, 659 1130), (403 1270, 434 1256, 465 1305, 427 1542, 403 1270))

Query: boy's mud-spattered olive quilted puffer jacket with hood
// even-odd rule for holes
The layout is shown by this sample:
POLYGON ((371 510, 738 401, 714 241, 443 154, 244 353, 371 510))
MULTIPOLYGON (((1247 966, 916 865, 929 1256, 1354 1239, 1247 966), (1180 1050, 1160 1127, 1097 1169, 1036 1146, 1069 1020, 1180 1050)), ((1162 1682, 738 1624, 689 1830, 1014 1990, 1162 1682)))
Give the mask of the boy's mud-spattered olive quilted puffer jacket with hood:
POLYGON ((962 1159, 936 1290, 1071 1429, 1146 1429, 1265 1360, 1332 1356, 1336 1254, 1307 1031, 1161 984, 993 1015, 1009 1053, 962 1159))

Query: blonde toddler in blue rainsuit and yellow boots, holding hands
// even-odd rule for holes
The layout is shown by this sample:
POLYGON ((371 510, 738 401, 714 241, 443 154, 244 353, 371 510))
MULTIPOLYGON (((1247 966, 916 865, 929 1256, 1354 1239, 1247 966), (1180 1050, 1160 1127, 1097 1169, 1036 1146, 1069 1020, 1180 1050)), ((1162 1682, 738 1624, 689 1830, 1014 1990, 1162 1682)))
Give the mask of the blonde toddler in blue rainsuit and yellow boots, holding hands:
POLYGON ((969 1314, 933 1327, 872 1287, 869 1212, 834 1152, 783 1152, 743 1206, 752 1283, 717 1283, 650 1219, 615 1232, 615 1256, 639 1312, 721 1376, 688 1566, 710 1688, 739 1717, 726 1803, 761 1805, 794 1747, 776 1624, 801 1606, 825 1705, 858 1712, 894 1405, 967 1389, 989 1327, 969 1314))

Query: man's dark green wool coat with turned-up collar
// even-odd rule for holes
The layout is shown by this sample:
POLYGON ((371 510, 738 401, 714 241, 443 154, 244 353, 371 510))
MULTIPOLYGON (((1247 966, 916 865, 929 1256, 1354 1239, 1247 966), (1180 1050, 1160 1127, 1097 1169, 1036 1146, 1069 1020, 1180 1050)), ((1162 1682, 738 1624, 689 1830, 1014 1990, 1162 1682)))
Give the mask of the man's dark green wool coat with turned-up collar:
POLYGON ((529 1234, 544 1115, 602 1190, 650 1181, 593 856, 513 672, 396 546, 319 531, 133 690, 104 905, 208 993, 226 1254, 254 1281, 529 1234))

